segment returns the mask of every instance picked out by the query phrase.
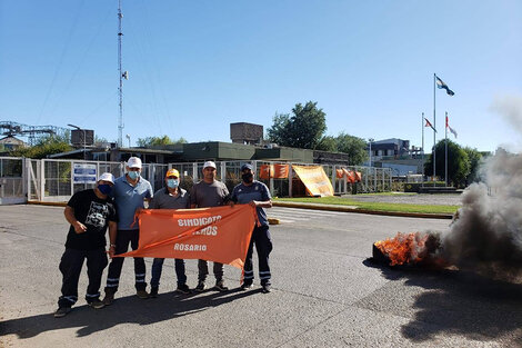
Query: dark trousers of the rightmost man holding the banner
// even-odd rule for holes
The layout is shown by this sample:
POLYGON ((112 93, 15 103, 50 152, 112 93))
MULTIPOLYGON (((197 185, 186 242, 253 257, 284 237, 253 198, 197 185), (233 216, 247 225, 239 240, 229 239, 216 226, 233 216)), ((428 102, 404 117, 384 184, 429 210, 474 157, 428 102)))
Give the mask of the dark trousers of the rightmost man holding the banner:
POLYGON ((272 251, 272 240, 270 238, 268 226, 254 227, 253 229, 249 251, 247 251, 247 259, 244 260, 244 282, 253 282, 252 253, 254 243, 259 258, 259 278, 261 279, 261 285, 270 284, 270 278, 272 276, 270 274, 269 256, 270 251, 272 251))

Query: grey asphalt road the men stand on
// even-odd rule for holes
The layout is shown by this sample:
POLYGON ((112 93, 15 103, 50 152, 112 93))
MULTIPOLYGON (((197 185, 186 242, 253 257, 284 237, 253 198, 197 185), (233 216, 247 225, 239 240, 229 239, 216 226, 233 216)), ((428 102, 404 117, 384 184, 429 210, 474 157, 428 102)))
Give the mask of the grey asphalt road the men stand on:
MULTIPOLYGON (((62 210, 0 206, 0 347, 522 347, 521 285, 369 262, 375 240, 448 220, 290 208, 270 210, 281 220, 271 294, 258 281, 238 290, 240 271, 225 267, 229 292, 177 296, 165 261, 160 297, 141 300, 127 259, 112 306, 86 306, 83 270, 79 302, 56 319, 62 210)), ((187 264, 194 287, 197 262, 187 264)))

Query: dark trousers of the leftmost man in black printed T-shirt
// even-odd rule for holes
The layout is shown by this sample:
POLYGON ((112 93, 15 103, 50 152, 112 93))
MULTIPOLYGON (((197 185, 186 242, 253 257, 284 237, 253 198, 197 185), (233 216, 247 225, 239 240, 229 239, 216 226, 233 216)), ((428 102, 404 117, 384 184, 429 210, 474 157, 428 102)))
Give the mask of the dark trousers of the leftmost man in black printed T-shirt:
POLYGON ((58 307, 71 307, 78 300, 78 280, 80 279, 84 259, 87 259, 87 275, 89 277, 86 300, 90 302, 100 297, 101 275, 108 264, 106 248, 102 247, 94 250, 67 248, 60 261, 62 286, 58 307))

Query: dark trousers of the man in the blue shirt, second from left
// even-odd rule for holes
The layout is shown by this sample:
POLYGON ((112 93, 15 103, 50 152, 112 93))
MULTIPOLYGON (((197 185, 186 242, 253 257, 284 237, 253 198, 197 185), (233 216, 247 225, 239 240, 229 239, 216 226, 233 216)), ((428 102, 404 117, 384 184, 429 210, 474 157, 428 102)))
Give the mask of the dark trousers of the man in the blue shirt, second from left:
MULTIPOLYGON (((129 242, 132 250, 138 249, 138 241, 140 231, 134 230, 118 230, 116 238, 116 250, 114 253, 127 252, 129 249, 129 242)), ((109 265, 109 275, 107 276, 106 291, 118 291, 120 285, 121 267, 123 266, 124 258, 116 257, 109 265)), ((142 257, 134 258, 134 276, 135 276, 135 289, 144 290, 147 288, 145 282, 145 261, 142 257)))

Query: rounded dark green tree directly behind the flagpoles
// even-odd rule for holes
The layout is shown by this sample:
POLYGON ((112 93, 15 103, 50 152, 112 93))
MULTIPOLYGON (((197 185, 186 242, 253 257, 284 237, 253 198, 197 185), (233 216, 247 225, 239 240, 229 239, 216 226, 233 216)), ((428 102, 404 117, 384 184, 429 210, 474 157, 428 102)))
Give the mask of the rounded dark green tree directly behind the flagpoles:
MULTIPOLYGON (((439 178, 444 178, 445 171, 445 140, 440 140, 435 146, 436 172, 439 178)), ((430 156, 424 166, 426 176, 433 175, 433 156, 430 156)), ((448 140, 448 183, 455 187, 464 187, 470 175, 470 159, 456 142, 448 140)))

